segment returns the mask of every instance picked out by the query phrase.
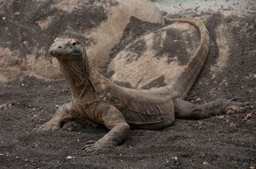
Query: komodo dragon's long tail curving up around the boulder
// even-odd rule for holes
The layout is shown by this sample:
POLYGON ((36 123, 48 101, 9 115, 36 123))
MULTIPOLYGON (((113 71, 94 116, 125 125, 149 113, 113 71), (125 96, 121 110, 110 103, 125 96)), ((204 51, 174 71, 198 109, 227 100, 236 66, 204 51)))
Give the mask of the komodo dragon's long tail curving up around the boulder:
POLYGON ((180 72, 180 74, 167 85, 174 91, 177 91, 180 98, 185 99, 189 90, 192 88, 194 82, 196 81, 196 78, 204 66, 204 62, 207 58, 210 47, 209 32, 207 31, 204 24, 195 18, 166 19, 169 21, 188 22, 193 24, 199 29, 201 34, 200 44, 195 55, 184 68, 184 70, 180 72))

